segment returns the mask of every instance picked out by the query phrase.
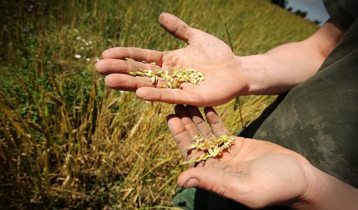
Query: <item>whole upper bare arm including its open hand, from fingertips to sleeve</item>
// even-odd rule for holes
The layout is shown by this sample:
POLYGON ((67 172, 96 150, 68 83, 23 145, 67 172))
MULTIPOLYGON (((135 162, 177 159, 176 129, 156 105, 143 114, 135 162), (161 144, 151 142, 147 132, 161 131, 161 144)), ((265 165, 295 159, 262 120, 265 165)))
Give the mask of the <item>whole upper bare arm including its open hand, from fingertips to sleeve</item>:
POLYGON ((163 13, 159 23, 170 34, 188 43, 183 49, 160 52, 140 48, 117 47, 103 52, 96 64, 107 75, 108 87, 135 91, 146 101, 217 106, 240 95, 280 94, 314 75, 332 51, 344 31, 328 21, 310 38, 281 45, 262 55, 239 57, 216 37, 191 28, 174 15, 163 13), (135 61, 128 61, 132 58, 135 61), (156 62, 144 64, 141 61, 156 62), (199 85, 180 84, 180 89, 159 88, 145 77, 132 77, 138 69, 194 68, 205 74, 199 85))

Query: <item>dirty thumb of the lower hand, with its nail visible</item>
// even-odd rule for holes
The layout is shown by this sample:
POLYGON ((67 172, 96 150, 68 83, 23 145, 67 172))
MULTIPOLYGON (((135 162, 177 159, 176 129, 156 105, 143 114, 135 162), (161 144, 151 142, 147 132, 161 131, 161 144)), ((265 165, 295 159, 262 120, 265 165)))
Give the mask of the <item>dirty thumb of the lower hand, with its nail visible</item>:
POLYGON ((197 187, 228 199, 237 200, 240 180, 232 172, 211 167, 195 167, 184 171, 178 178, 183 189, 197 187))

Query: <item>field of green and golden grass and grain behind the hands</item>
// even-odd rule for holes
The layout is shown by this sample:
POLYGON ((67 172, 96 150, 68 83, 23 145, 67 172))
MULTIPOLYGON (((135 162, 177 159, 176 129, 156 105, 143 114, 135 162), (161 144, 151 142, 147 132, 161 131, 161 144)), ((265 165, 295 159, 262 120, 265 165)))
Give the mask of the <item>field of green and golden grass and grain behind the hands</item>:
MULTIPOLYGON (((267 1, 4 0, 0 6, 3 209, 170 208, 185 169, 165 122, 174 105, 110 90, 94 67, 110 47, 185 47, 161 29, 160 13, 229 44, 226 23, 237 55, 264 53, 318 29, 267 1)), ((240 97, 216 109, 234 133, 274 98, 240 97)))

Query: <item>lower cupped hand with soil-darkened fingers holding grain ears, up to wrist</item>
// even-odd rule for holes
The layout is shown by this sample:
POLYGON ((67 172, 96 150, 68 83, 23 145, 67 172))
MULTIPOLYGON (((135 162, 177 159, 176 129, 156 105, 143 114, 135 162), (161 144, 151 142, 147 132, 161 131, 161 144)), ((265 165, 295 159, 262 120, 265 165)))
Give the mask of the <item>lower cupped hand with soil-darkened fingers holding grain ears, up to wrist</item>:
MULTIPOLYGON (((204 112, 208 123, 193 106, 177 105, 175 115, 167 118, 185 160, 203 153, 185 150, 194 143, 195 135, 204 140, 231 136, 213 108, 205 108, 204 112)), ((299 204, 308 196, 314 177, 313 166, 303 156, 274 143, 236 137, 231 150, 184 171, 178 184, 183 188, 198 187, 212 191, 256 209, 299 204)))

